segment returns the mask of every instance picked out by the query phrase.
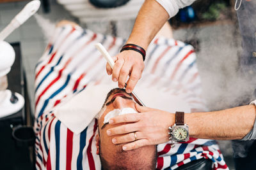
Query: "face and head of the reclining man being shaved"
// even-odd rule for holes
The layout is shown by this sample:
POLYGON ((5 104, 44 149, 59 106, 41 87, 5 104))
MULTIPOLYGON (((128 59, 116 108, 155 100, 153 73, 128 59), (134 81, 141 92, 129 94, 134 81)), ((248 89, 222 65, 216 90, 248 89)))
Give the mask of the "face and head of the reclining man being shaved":
POLYGON ((156 146, 145 146, 136 150, 124 151, 122 150, 124 144, 114 145, 111 140, 115 136, 107 135, 106 131, 108 129, 117 126, 106 124, 106 118, 112 115, 111 113, 116 113, 116 109, 122 110, 123 108, 132 108, 136 111, 136 103, 125 90, 113 89, 109 94, 98 122, 99 136, 96 136, 97 153, 100 155, 103 169, 104 167, 105 169, 155 169, 157 159, 156 146))

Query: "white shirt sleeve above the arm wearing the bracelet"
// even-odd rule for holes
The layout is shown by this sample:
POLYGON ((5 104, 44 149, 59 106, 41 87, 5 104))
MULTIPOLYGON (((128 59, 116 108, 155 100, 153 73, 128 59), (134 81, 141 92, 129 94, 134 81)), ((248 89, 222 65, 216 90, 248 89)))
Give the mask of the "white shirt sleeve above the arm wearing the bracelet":
POLYGON ((169 18, 176 15, 180 8, 191 5, 196 0, 156 0, 169 14, 169 18))

